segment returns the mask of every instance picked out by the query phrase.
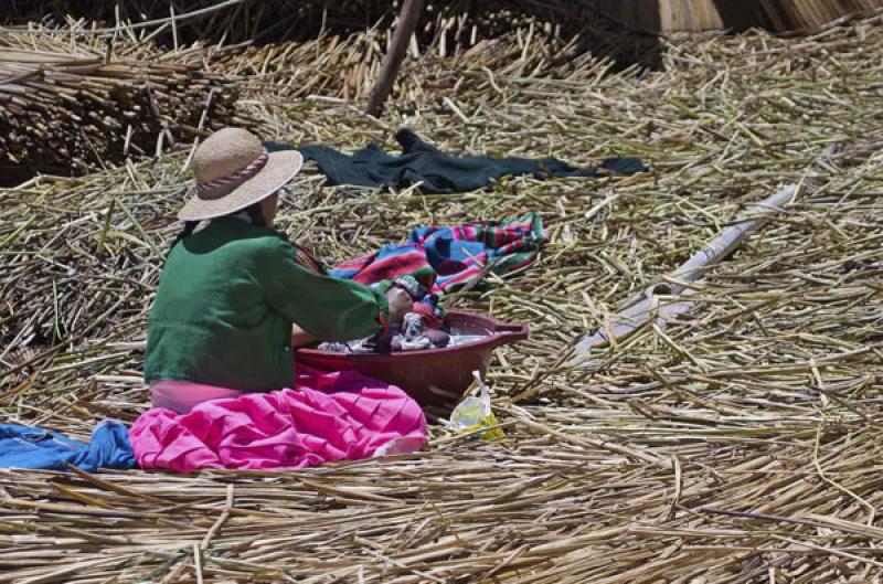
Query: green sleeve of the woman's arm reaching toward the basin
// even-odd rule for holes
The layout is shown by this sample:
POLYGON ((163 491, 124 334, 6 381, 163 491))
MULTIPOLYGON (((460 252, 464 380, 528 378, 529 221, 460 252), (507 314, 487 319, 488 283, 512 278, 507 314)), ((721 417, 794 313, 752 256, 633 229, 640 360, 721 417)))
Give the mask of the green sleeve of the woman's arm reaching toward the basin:
POLYGON ((270 307, 323 341, 350 341, 380 332, 386 296, 352 280, 316 274, 296 261, 296 248, 276 240, 256 268, 270 307))

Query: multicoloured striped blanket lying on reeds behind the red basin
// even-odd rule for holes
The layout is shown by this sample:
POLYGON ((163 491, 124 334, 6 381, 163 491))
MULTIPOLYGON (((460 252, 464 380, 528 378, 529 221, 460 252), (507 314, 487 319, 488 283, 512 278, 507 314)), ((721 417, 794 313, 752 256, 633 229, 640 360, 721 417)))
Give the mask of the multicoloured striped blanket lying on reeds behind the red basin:
POLYGON ((487 273, 504 275, 530 264, 545 241, 542 217, 534 213, 500 222, 418 227, 406 244, 344 262, 331 276, 365 285, 413 276, 433 295, 444 295, 475 285, 487 273))

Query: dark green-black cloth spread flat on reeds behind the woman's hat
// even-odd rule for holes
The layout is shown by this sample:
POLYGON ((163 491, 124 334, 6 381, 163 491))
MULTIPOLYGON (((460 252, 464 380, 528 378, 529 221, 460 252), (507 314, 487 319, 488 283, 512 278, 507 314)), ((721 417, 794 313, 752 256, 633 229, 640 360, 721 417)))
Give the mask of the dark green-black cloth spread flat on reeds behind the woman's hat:
POLYGON ((635 174, 647 170, 637 158, 609 158, 599 167, 573 167, 556 158, 493 158, 490 156, 451 156, 421 140, 409 129, 401 129, 395 139, 402 145, 401 155, 390 155, 377 144, 370 144, 352 155, 328 146, 300 146, 268 141, 269 151, 297 149, 307 160, 313 160, 328 177, 329 184, 358 187, 394 187, 404 189, 422 182, 426 193, 454 193, 483 189, 509 176, 599 177, 603 173, 635 174))

